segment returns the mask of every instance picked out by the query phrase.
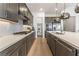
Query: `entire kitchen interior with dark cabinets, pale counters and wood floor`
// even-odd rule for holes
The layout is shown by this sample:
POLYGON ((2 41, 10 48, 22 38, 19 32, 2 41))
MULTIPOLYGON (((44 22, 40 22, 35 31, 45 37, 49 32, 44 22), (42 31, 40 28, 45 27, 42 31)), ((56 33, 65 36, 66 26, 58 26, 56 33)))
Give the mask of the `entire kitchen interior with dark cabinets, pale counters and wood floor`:
POLYGON ((78 3, 0 3, 0 56, 79 56, 78 36, 78 3))

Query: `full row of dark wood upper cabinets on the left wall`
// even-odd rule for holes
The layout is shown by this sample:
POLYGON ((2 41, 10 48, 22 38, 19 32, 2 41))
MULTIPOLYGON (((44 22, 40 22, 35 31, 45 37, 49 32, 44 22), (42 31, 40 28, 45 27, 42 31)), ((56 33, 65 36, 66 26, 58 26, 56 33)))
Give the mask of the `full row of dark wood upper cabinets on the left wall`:
POLYGON ((32 20, 33 16, 25 3, 0 3, 0 18, 17 22, 32 20))

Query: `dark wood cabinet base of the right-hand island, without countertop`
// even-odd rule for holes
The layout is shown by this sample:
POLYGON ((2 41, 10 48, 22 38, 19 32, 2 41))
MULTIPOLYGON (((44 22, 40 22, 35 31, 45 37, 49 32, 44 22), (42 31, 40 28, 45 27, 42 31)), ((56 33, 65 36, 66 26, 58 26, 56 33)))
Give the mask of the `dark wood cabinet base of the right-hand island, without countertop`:
POLYGON ((75 56, 76 49, 46 32, 47 43, 54 56, 75 56))

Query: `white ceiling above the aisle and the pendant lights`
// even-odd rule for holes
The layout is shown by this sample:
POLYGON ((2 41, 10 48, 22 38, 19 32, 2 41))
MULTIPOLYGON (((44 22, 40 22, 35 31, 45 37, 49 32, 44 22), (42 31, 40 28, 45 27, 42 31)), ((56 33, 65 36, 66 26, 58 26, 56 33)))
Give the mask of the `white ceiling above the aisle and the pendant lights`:
MULTIPOLYGON (((57 14, 60 14, 61 11, 64 10, 64 3, 26 3, 28 8, 30 9, 30 11, 33 12, 39 12, 40 8, 42 8, 45 12, 45 15, 49 15, 49 14, 56 14, 56 8, 57 10, 57 14), (57 6, 57 7, 56 7, 57 6)), ((66 3, 65 4, 65 8, 71 7, 73 5, 76 5, 75 3, 66 3)))

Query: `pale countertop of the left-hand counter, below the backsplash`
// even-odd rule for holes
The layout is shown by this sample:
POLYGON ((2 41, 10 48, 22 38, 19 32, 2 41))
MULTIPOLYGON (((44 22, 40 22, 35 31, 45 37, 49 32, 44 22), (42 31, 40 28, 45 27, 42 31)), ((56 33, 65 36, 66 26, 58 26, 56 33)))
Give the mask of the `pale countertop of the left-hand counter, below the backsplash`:
POLYGON ((0 38, 0 52, 4 49, 8 48, 9 46, 15 44, 19 40, 23 39, 24 37, 30 35, 34 31, 26 34, 26 35, 7 35, 0 38))

